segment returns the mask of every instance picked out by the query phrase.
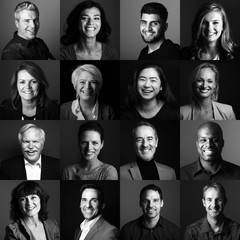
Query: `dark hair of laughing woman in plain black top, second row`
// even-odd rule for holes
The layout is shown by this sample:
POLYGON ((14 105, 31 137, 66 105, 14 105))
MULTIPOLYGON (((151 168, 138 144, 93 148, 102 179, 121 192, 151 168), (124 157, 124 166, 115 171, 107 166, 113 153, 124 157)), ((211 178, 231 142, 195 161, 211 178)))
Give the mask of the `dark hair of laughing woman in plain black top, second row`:
POLYGON ((167 102, 168 104, 173 104, 175 102, 175 97, 170 89, 170 86, 167 82, 167 79, 165 77, 165 74, 163 73, 162 68, 156 64, 156 63, 144 63, 142 64, 134 73, 134 77, 131 80, 130 84, 128 85, 128 96, 126 99, 126 103, 129 107, 135 107, 139 104, 141 104, 141 96, 139 95, 137 91, 137 82, 138 77, 142 70, 147 68, 153 68, 161 81, 162 90, 158 93, 156 96, 157 100, 163 100, 167 102))

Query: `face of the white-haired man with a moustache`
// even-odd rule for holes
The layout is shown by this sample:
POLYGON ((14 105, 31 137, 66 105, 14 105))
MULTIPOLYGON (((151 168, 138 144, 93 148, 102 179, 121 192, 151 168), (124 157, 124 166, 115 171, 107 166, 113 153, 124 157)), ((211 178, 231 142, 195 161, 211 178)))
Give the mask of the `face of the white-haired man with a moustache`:
POLYGON ((31 164, 38 161, 43 150, 44 142, 41 133, 35 128, 30 128, 22 135, 21 149, 24 158, 31 164))

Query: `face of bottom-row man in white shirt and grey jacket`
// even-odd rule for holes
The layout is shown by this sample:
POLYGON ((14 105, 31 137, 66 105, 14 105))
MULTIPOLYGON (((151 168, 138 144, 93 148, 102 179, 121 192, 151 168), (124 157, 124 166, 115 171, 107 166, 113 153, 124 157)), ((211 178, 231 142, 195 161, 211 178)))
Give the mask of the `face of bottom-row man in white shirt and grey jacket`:
POLYGON ((99 202, 98 191, 96 189, 86 188, 82 192, 80 208, 87 221, 90 221, 101 214, 103 206, 99 202))

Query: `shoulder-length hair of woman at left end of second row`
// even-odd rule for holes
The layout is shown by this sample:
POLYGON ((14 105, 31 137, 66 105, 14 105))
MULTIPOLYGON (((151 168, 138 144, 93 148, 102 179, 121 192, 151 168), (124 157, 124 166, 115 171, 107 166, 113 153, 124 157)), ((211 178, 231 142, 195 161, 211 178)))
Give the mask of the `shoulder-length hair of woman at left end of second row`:
POLYGON ((38 82, 38 95, 36 97, 37 106, 41 108, 47 107, 49 103, 46 92, 47 88, 49 87, 47 78, 43 70, 36 63, 27 61, 20 63, 13 73, 13 77, 11 80, 11 103, 13 109, 17 109, 21 102, 21 97, 17 89, 17 81, 18 73, 23 70, 26 70, 38 82))

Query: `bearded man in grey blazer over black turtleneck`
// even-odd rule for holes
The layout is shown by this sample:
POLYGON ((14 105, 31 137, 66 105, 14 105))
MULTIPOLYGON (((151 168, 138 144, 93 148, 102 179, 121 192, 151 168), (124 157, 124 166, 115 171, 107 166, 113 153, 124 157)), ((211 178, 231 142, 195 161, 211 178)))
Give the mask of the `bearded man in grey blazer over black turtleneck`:
POLYGON ((120 167, 121 180, 175 180, 173 168, 154 161, 158 146, 156 128, 140 121, 132 130, 136 160, 120 167))

